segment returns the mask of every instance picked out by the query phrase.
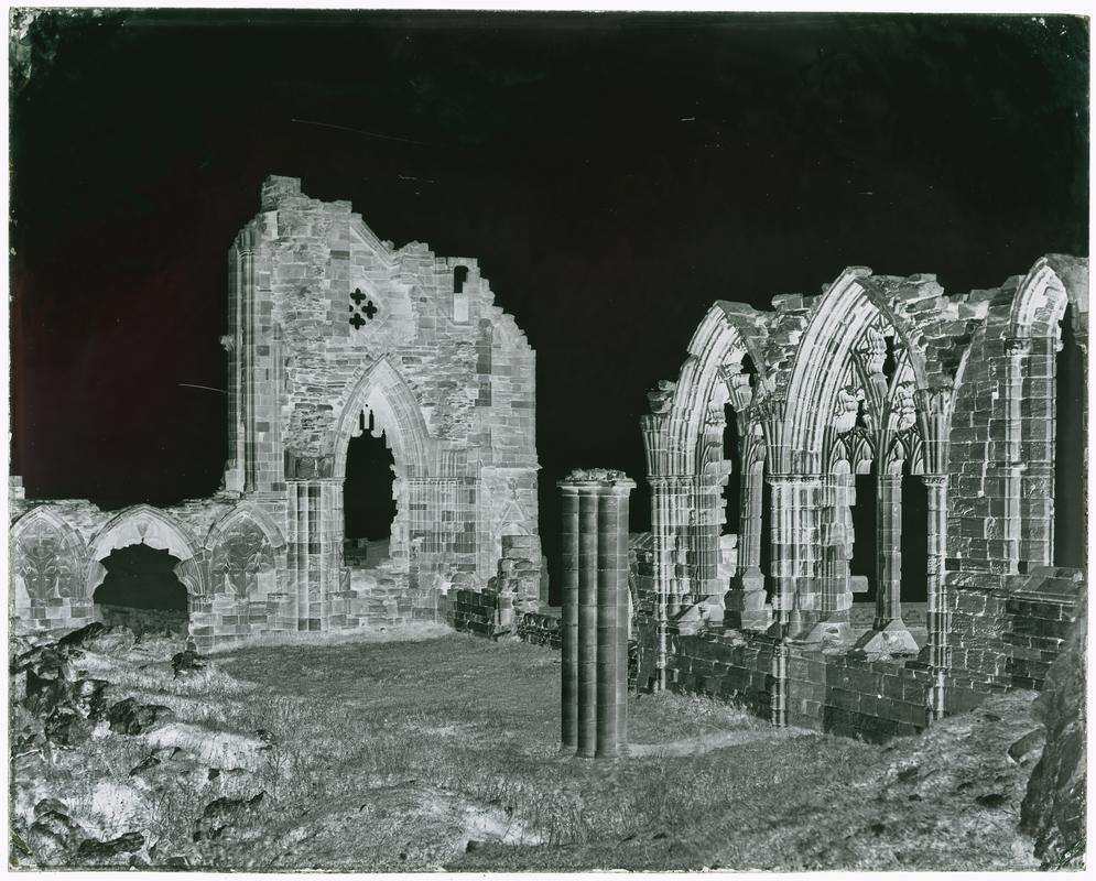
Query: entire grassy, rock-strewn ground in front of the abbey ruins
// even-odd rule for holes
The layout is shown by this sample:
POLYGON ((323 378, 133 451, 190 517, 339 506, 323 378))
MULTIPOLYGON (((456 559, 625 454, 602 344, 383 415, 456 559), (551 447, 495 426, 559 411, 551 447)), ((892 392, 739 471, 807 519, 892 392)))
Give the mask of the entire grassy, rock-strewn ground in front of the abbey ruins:
POLYGON ((636 696, 632 757, 593 764, 558 754, 557 653, 390 635, 214 659, 98 623, 15 640, 11 864, 1083 864, 1083 632, 1034 717, 1034 693, 1012 692, 879 746, 636 696))

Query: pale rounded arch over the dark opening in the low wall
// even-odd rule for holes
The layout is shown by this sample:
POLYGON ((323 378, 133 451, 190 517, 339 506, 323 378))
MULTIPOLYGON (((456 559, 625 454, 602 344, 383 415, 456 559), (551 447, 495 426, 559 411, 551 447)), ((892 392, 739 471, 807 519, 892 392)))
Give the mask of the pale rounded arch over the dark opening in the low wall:
POLYGON ((86 595, 91 597, 102 583, 107 570, 102 561, 112 551, 129 547, 131 544, 147 544, 159 551, 167 551, 178 558, 175 575, 191 596, 205 592, 206 584, 199 561, 202 547, 189 532, 169 514, 149 504, 127 508, 110 520, 99 532, 88 551, 86 595))

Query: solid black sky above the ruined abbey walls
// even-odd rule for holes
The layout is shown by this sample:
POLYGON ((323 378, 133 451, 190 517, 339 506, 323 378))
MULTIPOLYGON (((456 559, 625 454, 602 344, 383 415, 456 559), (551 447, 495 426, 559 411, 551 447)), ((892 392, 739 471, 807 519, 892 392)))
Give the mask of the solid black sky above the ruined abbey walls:
MULTIPOLYGON (((1070 18, 50 12, 15 44, 12 472, 105 507, 216 490, 226 252, 268 174, 476 257, 538 352, 541 523, 717 298, 850 264, 999 285, 1087 253, 1070 18)), ((1078 392, 1079 394, 1079 392, 1078 392)))

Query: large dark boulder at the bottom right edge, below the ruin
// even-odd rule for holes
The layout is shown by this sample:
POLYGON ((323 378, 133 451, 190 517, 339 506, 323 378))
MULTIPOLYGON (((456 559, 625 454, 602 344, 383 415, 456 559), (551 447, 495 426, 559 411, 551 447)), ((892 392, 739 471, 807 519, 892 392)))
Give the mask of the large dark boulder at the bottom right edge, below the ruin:
POLYGON ((1046 744, 1028 781, 1020 828, 1034 837, 1035 856, 1044 868, 1084 864, 1086 606, 1082 598, 1033 706, 1045 726, 1046 744))

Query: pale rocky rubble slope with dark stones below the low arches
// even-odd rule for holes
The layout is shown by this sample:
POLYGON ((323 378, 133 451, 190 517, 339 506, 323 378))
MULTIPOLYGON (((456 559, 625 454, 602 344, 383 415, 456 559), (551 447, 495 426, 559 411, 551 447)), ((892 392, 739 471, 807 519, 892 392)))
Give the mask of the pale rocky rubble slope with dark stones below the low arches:
POLYGON ((264 800, 247 766, 269 749, 264 732, 218 736, 123 696, 162 679, 177 703, 216 685, 181 638, 93 623, 56 642, 17 639, 11 654, 14 867, 187 868, 203 841, 229 837, 264 800), (124 782, 111 773, 120 760, 132 762, 124 782), (178 825, 158 804, 167 776, 188 781, 202 803, 185 846, 177 828, 164 834, 178 825))

